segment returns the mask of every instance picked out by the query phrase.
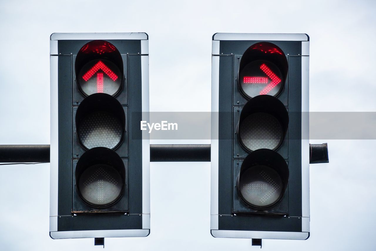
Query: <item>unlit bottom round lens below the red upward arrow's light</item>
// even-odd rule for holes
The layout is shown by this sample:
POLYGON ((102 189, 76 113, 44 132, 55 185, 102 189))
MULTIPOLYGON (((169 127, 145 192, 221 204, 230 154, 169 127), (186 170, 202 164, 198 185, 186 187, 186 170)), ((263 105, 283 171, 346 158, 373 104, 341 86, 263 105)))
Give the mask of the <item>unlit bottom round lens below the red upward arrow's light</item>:
POLYGON ((79 191, 93 206, 106 206, 115 202, 123 190, 120 174, 110 165, 97 164, 86 168, 79 178, 79 191))

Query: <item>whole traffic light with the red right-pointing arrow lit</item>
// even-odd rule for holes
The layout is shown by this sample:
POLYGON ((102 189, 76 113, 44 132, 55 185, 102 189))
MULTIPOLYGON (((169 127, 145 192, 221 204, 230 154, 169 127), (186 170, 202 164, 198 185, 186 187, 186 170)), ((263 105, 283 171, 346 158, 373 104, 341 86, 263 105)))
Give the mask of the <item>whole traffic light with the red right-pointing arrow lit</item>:
POLYGON ((211 234, 309 237, 309 37, 212 41, 211 234))

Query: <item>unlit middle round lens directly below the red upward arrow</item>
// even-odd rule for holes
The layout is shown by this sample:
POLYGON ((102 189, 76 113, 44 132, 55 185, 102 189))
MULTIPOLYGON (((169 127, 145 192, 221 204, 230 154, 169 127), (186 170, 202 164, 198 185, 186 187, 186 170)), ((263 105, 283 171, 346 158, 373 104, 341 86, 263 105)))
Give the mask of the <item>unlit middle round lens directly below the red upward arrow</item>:
POLYGON ((123 127, 118 118, 108 112, 96 111, 83 118, 77 133, 80 142, 88 149, 114 148, 120 141, 123 127))

